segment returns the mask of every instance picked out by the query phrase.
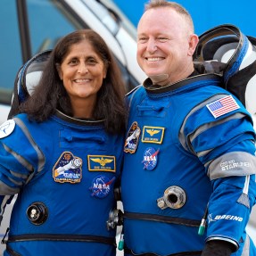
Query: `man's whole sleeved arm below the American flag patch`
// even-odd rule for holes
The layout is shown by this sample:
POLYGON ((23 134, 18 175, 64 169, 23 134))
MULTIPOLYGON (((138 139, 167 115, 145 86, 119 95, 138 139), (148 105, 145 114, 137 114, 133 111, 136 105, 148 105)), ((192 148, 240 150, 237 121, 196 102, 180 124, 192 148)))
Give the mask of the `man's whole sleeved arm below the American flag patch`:
MULTIPOLYGON (((202 113, 203 117, 207 115, 206 111, 202 113)), ((215 243, 221 241, 227 242, 233 252, 239 248, 246 239, 244 230, 256 199, 255 132, 249 116, 237 111, 218 120, 208 118, 204 118, 204 123, 198 119, 194 130, 189 128, 189 120, 186 124, 190 131, 187 148, 204 165, 213 191, 208 203, 204 256, 218 255, 206 252, 217 248, 215 243)), ((221 248, 224 246, 221 244, 221 248)))

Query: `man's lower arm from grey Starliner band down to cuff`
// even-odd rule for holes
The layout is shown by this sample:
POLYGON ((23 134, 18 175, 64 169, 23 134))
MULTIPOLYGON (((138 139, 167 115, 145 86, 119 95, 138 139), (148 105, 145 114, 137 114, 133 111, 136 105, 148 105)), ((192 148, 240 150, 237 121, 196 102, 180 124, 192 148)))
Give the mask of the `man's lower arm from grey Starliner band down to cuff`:
MULTIPOLYGON (((247 141, 247 148, 250 143, 247 141)), ((244 230, 256 199, 255 167, 255 156, 244 152, 226 153, 211 162, 208 173, 213 193, 206 241, 227 241, 238 249, 245 240, 244 230)))

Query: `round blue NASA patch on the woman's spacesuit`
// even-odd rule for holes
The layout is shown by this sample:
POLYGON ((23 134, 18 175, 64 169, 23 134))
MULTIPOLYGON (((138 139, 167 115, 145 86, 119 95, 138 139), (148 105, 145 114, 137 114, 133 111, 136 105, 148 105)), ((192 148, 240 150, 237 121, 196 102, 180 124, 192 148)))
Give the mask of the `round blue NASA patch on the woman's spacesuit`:
POLYGON ((90 190, 92 196, 103 198, 106 197, 111 191, 111 184, 115 180, 114 178, 107 178, 106 176, 99 175, 94 178, 90 190))

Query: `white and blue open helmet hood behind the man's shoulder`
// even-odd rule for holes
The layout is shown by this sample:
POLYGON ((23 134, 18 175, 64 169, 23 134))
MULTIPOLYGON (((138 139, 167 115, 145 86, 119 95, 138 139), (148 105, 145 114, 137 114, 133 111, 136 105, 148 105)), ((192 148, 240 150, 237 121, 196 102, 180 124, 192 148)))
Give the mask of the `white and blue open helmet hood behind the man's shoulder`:
POLYGON ((199 37, 194 62, 220 62, 214 72, 222 76, 224 88, 256 114, 256 38, 230 24, 215 27, 199 37))

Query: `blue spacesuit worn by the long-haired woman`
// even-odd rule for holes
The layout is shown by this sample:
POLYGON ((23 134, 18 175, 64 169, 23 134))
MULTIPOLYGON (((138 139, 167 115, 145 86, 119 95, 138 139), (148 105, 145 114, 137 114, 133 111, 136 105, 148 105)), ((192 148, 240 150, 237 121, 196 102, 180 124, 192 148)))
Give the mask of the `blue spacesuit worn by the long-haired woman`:
POLYGON ((122 136, 106 133, 103 121, 57 111, 41 123, 19 114, 0 137, 2 214, 18 194, 4 255, 114 256, 106 221, 116 207, 122 136))

